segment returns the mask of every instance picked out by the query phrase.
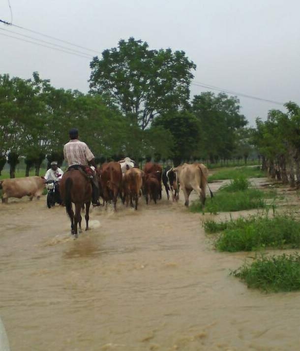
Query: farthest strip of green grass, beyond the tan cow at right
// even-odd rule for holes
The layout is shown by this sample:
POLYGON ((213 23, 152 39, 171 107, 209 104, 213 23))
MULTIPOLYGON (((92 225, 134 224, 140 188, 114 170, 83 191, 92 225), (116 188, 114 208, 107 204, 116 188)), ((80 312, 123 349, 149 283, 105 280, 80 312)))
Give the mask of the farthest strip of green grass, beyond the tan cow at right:
POLYGON ((235 179, 243 176, 245 178, 262 178, 266 177, 265 172, 257 167, 236 167, 236 168, 224 168, 221 169, 209 177, 209 182, 222 179, 235 179))

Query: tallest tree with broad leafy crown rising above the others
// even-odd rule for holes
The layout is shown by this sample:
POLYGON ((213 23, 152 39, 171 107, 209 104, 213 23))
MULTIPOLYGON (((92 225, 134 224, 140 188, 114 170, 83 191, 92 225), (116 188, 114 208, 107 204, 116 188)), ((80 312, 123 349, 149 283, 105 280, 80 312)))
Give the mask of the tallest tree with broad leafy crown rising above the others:
POLYGON ((90 92, 133 114, 145 129, 154 116, 187 104, 196 65, 183 51, 149 50, 147 42, 131 37, 104 50, 101 59, 94 57, 90 68, 90 92))

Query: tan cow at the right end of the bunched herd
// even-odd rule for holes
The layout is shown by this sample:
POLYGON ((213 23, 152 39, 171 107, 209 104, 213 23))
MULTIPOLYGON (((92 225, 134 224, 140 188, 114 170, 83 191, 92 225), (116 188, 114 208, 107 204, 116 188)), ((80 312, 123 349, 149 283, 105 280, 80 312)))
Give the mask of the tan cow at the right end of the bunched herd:
MULTIPOLYGON (((192 190, 195 190, 200 197, 202 204, 205 204, 206 186, 208 186, 209 170, 203 163, 183 163, 182 165, 173 168, 179 178, 180 186, 184 194, 185 203, 188 207, 188 197, 192 190)), ((210 189, 210 188, 209 188, 210 189)), ((212 192, 210 191, 212 197, 212 192)))

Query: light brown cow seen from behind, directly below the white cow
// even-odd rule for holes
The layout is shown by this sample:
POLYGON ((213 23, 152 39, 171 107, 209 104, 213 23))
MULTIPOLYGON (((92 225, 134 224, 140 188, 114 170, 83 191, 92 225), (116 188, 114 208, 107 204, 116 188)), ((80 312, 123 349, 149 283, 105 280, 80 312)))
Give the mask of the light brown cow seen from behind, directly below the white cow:
POLYGON ((139 168, 130 168, 128 169, 123 178, 123 191, 124 191, 124 200, 126 200, 126 206, 128 206, 129 198, 130 198, 130 206, 133 207, 132 197, 135 200, 135 209, 138 209, 138 200, 140 190, 143 184, 144 172, 139 168))

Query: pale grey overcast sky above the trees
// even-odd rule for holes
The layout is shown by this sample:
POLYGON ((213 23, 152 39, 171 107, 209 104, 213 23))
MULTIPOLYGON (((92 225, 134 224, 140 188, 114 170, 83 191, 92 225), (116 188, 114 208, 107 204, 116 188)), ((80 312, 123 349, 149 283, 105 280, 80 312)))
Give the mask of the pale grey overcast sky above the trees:
MULTIPOLYGON (((104 49, 117 46, 121 38, 133 36, 147 41, 151 49, 184 50, 197 65, 195 82, 278 102, 300 103, 299 0, 10 0, 10 3, 13 24, 96 50, 99 55, 104 49)), ((7 0, 0 0, 0 19, 10 22, 7 0)), ((2 24, 0 29, 35 36, 2 24)), ((2 30, 0 34, 16 36, 2 30)), ((87 92, 89 63, 89 58, 0 35, 0 74, 30 78, 33 71, 38 71, 41 78, 50 79, 55 87, 87 92)), ((192 85, 191 97, 207 90, 192 85)), ((240 97, 240 104, 250 125, 258 116, 266 119, 269 109, 282 109, 245 97, 240 97)))

